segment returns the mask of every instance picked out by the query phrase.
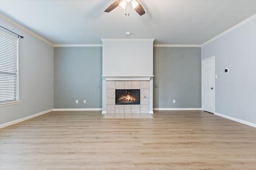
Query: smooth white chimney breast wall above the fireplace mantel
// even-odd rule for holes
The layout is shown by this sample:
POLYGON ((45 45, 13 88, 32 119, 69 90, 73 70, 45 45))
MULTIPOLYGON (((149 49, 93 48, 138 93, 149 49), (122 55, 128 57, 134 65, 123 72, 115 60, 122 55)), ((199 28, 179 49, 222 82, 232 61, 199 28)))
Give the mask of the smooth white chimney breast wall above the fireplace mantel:
POLYGON ((102 75, 153 75, 153 41, 154 39, 102 39, 102 75))

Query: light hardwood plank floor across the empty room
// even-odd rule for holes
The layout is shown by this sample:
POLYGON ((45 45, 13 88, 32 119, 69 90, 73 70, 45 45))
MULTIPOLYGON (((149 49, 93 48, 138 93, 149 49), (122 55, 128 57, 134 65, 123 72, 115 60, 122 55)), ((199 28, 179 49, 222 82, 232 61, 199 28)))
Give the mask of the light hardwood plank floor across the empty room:
POLYGON ((256 128, 204 111, 54 111, 0 129, 0 170, 256 170, 256 128))

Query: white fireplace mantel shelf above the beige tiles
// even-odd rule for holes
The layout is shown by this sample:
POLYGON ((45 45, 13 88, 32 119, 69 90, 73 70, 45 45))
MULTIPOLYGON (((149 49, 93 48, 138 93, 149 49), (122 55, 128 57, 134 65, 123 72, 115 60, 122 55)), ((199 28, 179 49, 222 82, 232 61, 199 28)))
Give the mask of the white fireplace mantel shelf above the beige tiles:
POLYGON ((150 80, 151 77, 154 77, 154 75, 126 75, 126 76, 120 76, 120 75, 111 75, 111 76, 105 76, 102 75, 106 80, 150 80))

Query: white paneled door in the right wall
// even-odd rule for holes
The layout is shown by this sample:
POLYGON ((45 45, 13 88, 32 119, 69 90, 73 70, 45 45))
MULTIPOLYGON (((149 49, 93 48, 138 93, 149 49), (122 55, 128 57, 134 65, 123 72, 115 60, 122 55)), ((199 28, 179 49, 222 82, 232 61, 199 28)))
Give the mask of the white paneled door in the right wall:
POLYGON ((215 111, 215 57, 202 60, 202 109, 215 111))

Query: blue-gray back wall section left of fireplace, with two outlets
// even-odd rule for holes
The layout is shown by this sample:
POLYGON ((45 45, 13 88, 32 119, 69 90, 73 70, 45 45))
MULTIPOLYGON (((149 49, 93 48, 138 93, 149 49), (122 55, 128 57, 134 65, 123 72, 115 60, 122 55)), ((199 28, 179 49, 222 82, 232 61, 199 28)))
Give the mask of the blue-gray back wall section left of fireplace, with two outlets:
POLYGON ((101 107, 102 47, 54 47, 54 108, 101 107))

